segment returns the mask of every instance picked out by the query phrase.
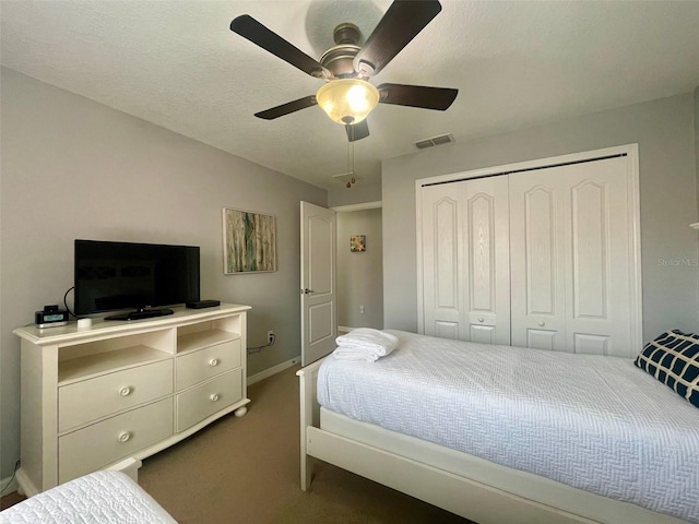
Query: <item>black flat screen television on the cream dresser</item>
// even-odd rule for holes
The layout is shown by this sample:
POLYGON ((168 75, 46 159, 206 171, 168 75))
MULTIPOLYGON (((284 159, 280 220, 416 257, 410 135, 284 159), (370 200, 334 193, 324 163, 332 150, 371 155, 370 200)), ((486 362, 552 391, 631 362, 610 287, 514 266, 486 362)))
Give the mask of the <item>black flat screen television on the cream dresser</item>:
POLYGON ((75 315, 106 320, 171 314, 163 306, 199 300, 199 247, 75 240, 75 315))

